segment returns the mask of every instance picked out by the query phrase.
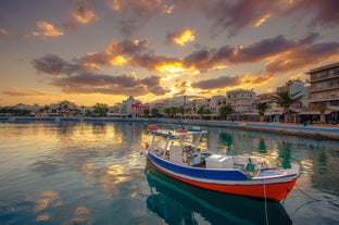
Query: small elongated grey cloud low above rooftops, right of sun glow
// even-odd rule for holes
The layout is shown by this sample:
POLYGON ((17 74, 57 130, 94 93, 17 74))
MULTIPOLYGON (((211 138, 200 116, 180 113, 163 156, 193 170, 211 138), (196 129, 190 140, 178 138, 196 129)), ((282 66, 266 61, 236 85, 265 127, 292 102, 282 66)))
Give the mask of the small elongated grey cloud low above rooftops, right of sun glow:
POLYGON ((199 89, 223 89, 239 85, 239 77, 237 76, 221 76, 218 78, 205 79, 192 83, 193 88, 199 89))

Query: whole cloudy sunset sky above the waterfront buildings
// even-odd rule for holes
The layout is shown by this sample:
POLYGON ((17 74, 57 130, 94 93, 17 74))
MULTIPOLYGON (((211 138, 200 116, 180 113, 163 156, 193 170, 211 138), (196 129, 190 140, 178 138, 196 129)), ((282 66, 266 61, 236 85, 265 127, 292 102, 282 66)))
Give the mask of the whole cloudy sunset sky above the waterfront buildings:
POLYGON ((339 61, 337 0, 1 0, 0 105, 275 91, 339 61))

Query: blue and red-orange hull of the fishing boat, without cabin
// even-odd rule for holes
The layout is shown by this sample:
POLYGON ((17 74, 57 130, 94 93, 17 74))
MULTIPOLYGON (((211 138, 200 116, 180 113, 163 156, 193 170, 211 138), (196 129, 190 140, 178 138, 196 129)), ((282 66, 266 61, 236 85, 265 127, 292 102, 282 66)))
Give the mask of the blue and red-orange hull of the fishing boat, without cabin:
POLYGON ((246 179, 244 174, 235 170, 231 171, 233 179, 229 179, 222 175, 222 171, 176 165, 149 151, 147 157, 160 172, 180 182, 209 190, 273 201, 285 199, 298 178, 298 174, 292 174, 284 177, 246 179))

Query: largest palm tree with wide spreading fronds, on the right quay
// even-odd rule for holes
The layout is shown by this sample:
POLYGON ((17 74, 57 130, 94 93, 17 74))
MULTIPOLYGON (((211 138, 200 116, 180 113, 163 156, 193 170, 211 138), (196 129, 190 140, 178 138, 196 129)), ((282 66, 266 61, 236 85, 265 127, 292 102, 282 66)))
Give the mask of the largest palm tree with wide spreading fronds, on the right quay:
POLYGON ((276 92, 276 96, 272 96, 273 101, 277 104, 281 105, 284 109, 284 121, 285 123, 289 122, 290 115, 290 107, 298 102, 303 96, 300 95, 300 91, 297 91, 292 95, 289 91, 281 90, 280 92, 276 92))

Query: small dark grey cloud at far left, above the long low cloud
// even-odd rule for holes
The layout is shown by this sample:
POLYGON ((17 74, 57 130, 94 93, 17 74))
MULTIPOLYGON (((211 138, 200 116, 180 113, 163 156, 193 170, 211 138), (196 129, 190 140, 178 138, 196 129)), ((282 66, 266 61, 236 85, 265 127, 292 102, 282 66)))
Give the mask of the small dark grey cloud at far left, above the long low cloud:
POLYGON ((52 75, 70 75, 83 71, 83 67, 80 65, 68 63, 62 57, 55 54, 48 54, 42 58, 36 59, 33 61, 33 65, 38 72, 52 75))

